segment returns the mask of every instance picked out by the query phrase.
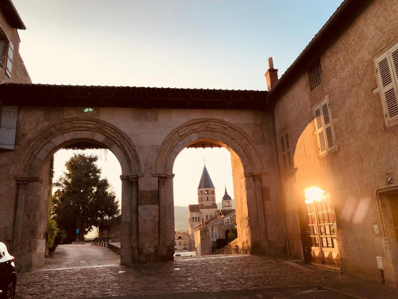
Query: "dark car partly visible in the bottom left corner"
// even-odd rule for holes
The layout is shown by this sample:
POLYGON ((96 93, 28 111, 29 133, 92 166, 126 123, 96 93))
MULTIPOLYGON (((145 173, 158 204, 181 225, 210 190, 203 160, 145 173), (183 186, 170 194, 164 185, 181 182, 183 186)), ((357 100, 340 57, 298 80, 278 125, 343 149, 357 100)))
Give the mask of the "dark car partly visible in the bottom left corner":
POLYGON ((14 256, 11 256, 6 245, 0 242, 0 298, 14 299, 16 283, 14 256))

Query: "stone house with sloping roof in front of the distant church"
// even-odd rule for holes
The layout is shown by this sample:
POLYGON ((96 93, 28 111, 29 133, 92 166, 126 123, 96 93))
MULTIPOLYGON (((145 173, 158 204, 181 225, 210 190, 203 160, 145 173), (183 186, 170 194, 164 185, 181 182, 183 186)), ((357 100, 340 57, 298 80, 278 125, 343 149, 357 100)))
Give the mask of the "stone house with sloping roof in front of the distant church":
POLYGON ((223 212, 225 213, 219 211, 216 216, 193 231, 197 255, 206 256, 221 249, 217 248, 217 239, 226 239, 227 242, 228 232, 234 226, 236 215, 234 210, 228 210, 226 214, 223 212))

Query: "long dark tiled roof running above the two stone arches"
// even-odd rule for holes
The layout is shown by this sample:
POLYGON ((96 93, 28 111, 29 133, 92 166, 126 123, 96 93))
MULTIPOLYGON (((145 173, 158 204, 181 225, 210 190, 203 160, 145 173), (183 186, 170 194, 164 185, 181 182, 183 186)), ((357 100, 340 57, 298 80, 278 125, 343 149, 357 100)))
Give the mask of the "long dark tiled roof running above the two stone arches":
POLYGON ((263 110, 266 91, 48 84, 0 85, 2 102, 18 106, 263 110))

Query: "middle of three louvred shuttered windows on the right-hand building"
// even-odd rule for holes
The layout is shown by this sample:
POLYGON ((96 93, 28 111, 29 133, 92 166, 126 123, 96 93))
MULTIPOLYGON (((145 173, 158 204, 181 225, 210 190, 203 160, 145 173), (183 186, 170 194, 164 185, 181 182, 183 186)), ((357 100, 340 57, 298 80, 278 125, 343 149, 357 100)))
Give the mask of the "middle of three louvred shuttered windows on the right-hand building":
POLYGON ((319 154, 322 156, 336 149, 336 138, 332 127, 332 114, 330 112, 328 97, 312 108, 312 113, 314 115, 319 154))

